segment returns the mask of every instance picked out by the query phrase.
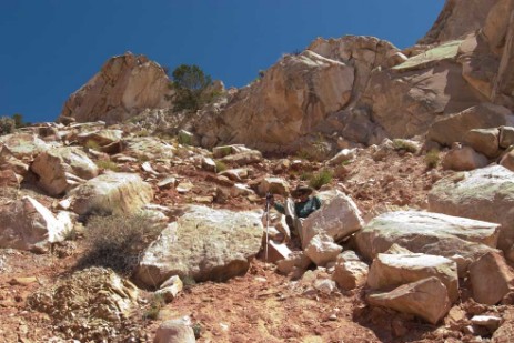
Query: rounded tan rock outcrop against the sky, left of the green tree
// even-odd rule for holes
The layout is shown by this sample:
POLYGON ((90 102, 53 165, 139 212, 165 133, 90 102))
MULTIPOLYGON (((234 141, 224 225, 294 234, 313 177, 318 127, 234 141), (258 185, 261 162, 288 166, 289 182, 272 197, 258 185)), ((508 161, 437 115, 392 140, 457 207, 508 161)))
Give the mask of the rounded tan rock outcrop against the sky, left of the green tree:
POLYGON ((70 95, 60 117, 108 124, 134 117, 147 108, 171 107, 164 69, 144 56, 127 52, 109 59, 99 73, 70 95))

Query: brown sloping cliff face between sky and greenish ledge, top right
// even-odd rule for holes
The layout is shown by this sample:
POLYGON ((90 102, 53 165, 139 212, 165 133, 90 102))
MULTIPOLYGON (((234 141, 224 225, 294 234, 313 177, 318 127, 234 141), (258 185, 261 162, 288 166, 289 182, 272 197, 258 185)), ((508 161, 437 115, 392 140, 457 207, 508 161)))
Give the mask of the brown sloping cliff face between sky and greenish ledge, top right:
POLYGON ((458 1, 449 0, 421 44, 432 44, 460 38, 481 29, 496 0, 458 1))

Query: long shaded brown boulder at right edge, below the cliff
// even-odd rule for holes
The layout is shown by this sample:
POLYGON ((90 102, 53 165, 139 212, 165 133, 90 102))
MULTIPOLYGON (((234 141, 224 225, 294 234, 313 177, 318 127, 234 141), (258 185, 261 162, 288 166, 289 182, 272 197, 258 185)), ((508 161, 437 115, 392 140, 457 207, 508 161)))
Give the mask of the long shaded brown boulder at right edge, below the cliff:
POLYGON ((427 139, 443 145, 462 142, 470 130, 514 125, 512 112, 501 105, 481 103, 462 112, 437 119, 429 130, 427 139))

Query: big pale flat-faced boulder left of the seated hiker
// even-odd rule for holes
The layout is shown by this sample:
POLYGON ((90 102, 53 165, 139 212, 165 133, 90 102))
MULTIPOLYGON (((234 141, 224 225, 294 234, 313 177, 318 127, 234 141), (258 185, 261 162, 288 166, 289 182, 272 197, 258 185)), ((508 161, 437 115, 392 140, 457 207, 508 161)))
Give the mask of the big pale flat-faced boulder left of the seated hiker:
POLYGON ((262 235, 256 212, 190 206, 147 249, 135 278, 158 286, 171 275, 224 281, 244 274, 259 253, 262 235))

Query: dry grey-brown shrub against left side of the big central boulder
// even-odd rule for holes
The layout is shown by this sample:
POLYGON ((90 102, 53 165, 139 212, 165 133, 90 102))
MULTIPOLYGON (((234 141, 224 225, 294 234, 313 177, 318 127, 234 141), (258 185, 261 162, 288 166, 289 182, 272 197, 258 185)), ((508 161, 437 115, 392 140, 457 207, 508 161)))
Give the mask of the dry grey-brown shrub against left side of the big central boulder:
POLYGON ((144 214, 92 215, 85 225, 87 250, 79 268, 104 266, 130 275, 140 254, 161 231, 162 228, 152 224, 144 214))

